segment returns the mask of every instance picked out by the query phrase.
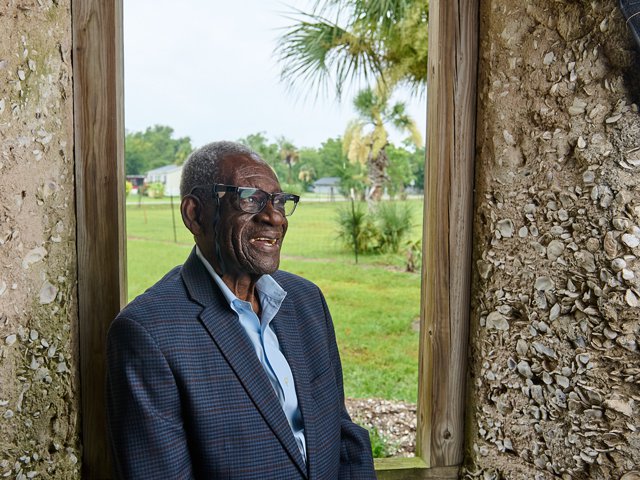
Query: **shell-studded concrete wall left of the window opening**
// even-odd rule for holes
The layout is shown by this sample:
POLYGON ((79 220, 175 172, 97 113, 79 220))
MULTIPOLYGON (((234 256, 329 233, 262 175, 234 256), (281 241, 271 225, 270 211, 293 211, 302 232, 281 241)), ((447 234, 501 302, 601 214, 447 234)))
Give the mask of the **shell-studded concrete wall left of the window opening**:
POLYGON ((78 478, 70 1, 0 32, 0 477, 78 478))

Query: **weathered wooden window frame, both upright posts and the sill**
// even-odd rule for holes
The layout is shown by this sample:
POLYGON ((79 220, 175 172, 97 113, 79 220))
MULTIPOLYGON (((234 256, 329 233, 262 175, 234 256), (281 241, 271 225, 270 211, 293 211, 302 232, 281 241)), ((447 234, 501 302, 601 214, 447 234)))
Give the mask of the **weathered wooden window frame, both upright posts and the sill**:
MULTIPOLYGON (((105 339, 126 302, 123 0, 71 0, 82 478, 111 477, 105 339)), ((378 478, 454 479, 463 461, 478 0, 431 0, 415 458, 378 478)))

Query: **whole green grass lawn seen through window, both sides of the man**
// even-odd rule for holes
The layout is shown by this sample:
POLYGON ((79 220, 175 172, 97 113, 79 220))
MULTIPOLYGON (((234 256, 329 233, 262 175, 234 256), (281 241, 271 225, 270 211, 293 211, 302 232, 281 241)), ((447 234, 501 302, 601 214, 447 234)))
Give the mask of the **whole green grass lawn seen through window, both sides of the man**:
MULTIPOLYGON (((414 211, 419 239, 422 201, 414 211)), ((333 316, 342 356, 345 394, 416 401, 420 275, 402 271, 405 253, 360 256, 354 262, 336 240, 336 209, 346 202, 304 202, 289 219, 281 268, 316 283, 333 316)), ((184 262, 193 239, 175 204, 127 206, 129 299, 184 262)))

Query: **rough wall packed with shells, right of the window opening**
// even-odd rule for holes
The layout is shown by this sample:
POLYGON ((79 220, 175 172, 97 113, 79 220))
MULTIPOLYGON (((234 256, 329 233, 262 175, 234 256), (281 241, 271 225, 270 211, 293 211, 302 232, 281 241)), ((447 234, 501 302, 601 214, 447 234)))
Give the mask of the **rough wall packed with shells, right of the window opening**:
POLYGON ((617 1, 481 2, 466 478, 640 478, 639 70, 617 1))

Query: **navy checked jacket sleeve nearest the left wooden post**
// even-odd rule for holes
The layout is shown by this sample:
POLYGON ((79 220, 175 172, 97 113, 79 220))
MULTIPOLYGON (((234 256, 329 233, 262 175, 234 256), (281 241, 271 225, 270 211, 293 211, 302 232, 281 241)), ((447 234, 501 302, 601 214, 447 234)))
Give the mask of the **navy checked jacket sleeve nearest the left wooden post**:
POLYGON ((106 387, 116 477, 192 478, 175 378, 153 337, 130 319, 109 329, 106 387))

